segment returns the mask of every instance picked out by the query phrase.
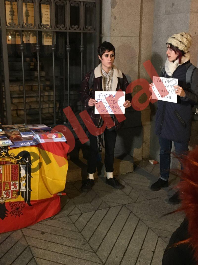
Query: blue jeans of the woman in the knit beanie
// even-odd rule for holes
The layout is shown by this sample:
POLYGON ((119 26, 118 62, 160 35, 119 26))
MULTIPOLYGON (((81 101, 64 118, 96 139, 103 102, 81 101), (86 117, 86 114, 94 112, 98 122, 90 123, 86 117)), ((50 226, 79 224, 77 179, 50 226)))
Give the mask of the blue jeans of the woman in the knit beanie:
MULTIPOLYGON (((175 152, 177 156, 181 157, 182 154, 186 154, 188 151, 188 143, 178 143, 174 142, 175 152)), ((163 180, 168 180, 169 170, 171 164, 171 149, 172 149, 172 141, 159 136, 159 144, 160 144, 160 178, 163 180)), ((181 164, 181 170, 183 170, 183 166, 181 164)))

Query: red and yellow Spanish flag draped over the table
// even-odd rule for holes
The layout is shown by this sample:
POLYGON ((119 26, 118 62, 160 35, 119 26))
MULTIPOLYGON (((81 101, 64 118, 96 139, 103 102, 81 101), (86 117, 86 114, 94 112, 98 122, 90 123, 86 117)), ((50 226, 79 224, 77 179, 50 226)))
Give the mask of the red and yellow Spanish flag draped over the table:
POLYGON ((60 211, 68 170, 65 142, 0 147, 0 233, 20 229, 60 211))

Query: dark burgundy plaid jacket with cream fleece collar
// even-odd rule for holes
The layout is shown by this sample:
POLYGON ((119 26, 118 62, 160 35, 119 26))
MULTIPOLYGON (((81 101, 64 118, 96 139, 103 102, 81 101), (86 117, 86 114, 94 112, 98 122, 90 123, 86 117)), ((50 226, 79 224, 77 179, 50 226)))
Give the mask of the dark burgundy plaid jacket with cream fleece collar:
MULTIPOLYGON (((126 87, 129 85, 126 76, 119 70, 117 69, 114 65, 113 65, 113 81, 112 81, 112 91, 117 91, 119 89, 121 89, 122 91, 126 91, 126 87), (123 78, 122 82, 121 82, 121 78, 123 78), (122 87, 121 87, 121 83, 122 83, 122 87)), ((102 72, 101 72, 101 64, 99 64, 95 69, 94 69, 94 74, 95 74, 95 78, 93 80, 93 86, 92 86, 92 90, 91 90, 91 95, 89 96, 89 78, 90 78, 90 74, 92 71, 88 72, 86 74, 86 76, 83 78, 83 80, 81 81, 81 86, 80 86, 80 96, 81 96, 81 102, 82 105, 86 108, 89 117, 86 117, 87 122, 90 123, 90 121, 92 120, 93 123, 95 124, 96 127, 98 127, 101 116, 100 114, 95 114, 94 113, 94 106, 93 107, 89 107, 88 106, 88 101, 90 98, 95 98, 95 91, 103 91, 102 87, 103 87, 103 76, 102 76, 102 72)), ((126 94, 125 96, 125 100, 129 100, 131 101, 131 93, 126 94)), ((114 121, 114 125, 116 127, 116 129, 119 129, 122 125, 123 122, 119 123, 119 121, 117 120, 116 116, 113 115, 112 117, 113 121, 114 121)))

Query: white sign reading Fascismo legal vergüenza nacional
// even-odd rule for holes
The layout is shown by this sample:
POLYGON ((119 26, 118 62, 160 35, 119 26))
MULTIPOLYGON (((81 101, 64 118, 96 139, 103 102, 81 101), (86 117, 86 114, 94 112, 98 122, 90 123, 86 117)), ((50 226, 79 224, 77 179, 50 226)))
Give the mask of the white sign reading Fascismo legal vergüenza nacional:
POLYGON ((174 86, 178 85, 178 78, 153 76, 152 99, 177 103, 174 86))

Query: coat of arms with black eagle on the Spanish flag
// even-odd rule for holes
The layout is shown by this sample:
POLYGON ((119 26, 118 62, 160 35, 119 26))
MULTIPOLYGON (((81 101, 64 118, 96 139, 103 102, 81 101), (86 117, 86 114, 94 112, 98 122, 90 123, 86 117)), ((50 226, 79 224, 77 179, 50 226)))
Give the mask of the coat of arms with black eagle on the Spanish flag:
POLYGON ((14 215, 22 214, 21 209, 26 202, 31 206, 31 158, 27 151, 22 151, 15 156, 14 153, 8 154, 6 147, 2 149, 0 153, 0 209, 4 211, 1 211, 0 218, 4 219, 7 217, 6 207, 4 207, 7 200, 12 209, 11 214, 14 215), (15 209, 15 202, 12 201, 20 194, 25 202, 18 202, 17 209, 15 209))

